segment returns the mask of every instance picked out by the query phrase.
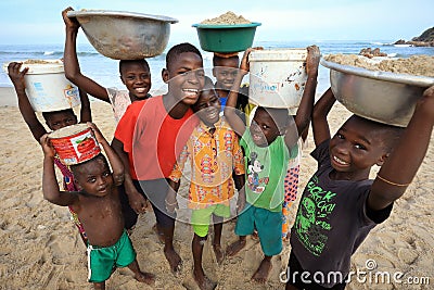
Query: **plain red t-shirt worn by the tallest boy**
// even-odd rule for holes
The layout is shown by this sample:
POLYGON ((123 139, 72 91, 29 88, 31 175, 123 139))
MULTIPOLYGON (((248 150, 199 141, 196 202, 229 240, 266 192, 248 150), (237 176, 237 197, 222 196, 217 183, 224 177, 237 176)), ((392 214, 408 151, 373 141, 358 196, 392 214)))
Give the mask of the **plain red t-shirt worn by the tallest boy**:
POLYGON ((197 123, 191 109, 182 118, 170 117, 163 96, 131 103, 115 131, 115 138, 128 153, 131 177, 137 180, 169 177, 197 123))

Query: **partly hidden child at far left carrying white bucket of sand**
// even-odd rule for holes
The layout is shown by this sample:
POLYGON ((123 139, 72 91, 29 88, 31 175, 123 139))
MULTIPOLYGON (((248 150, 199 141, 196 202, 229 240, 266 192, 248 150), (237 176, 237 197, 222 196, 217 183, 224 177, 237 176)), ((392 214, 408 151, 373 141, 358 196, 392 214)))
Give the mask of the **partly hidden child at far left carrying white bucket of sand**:
MULTIPOLYGON (((39 142, 40 138, 47 134, 46 128, 43 125, 39 122, 37 115, 35 114, 34 109, 31 108, 31 104, 27 98, 27 93, 25 90, 25 81, 24 81, 24 76, 28 72, 28 67, 23 68, 22 63, 20 62, 11 62, 8 65, 8 74, 9 77, 12 80, 12 84, 14 85, 16 96, 18 98, 18 109, 24 118, 24 121, 27 124, 27 127, 30 129, 31 135, 34 136, 35 140, 39 142)), ((90 103, 89 103, 89 98, 88 94, 79 89, 80 93, 80 101, 81 101, 81 106, 80 106, 80 123, 86 123, 86 122, 91 122, 91 112, 90 112, 90 103)), ((52 111, 52 112, 42 112, 42 117, 46 121, 47 126, 49 127, 50 130, 56 130, 69 125, 77 124, 77 116, 75 115, 73 109, 66 109, 62 111, 52 111)), ((54 159, 55 165, 59 167, 63 175, 63 189, 67 191, 77 191, 77 187, 74 182, 74 176, 73 173, 71 172, 69 167, 62 164, 60 160, 56 157, 54 159)), ((77 215, 74 213, 73 209, 69 207, 69 212, 73 216, 73 220, 75 225, 78 228, 78 231, 80 234, 81 240, 87 242, 86 238, 86 232, 85 229, 82 228, 80 222, 78 220, 77 215)))

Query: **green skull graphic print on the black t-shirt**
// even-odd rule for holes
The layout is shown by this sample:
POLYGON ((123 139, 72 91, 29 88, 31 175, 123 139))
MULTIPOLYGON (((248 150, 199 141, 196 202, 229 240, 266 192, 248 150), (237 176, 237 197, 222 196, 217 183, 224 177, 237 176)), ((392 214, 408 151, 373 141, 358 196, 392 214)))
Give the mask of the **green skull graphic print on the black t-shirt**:
POLYGON ((314 176, 306 186, 307 194, 299 202, 295 218, 295 232, 304 247, 315 255, 320 255, 327 244, 330 215, 335 209, 333 198, 336 193, 323 190, 314 176))

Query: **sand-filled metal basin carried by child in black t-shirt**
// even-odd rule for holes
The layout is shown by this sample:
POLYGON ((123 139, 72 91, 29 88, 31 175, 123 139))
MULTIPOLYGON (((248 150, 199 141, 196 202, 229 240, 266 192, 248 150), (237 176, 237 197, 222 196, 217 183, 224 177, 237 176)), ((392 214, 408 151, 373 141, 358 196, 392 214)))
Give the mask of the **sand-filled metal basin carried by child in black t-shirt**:
POLYGON ((356 115, 406 127, 433 77, 369 71, 321 59, 330 68, 330 84, 339 102, 356 115))

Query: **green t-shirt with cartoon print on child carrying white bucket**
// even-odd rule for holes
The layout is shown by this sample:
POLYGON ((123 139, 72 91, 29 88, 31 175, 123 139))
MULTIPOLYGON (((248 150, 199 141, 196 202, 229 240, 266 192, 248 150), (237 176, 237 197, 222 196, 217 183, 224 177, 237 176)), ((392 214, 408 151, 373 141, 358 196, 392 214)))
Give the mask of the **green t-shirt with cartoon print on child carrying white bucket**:
POLYGON ((253 142, 248 128, 243 134, 240 146, 245 154, 246 201, 256 207, 271 212, 282 211, 283 181, 290 159, 298 153, 297 146, 291 150, 290 154, 284 137, 279 136, 268 147, 258 147, 253 142))

